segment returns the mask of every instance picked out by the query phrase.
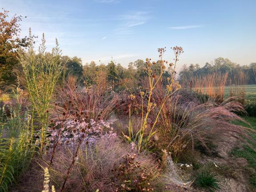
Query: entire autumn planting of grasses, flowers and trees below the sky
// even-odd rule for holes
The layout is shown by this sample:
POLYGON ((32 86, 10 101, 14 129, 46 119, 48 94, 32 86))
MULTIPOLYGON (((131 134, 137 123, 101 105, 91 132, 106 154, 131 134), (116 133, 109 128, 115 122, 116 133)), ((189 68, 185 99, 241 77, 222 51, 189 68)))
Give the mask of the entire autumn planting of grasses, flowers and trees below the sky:
POLYGON ((48 52, 44 34, 39 47, 31 30, 9 40, 21 18, 7 16, 0 192, 256 191, 256 64, 184 76, 174 46, 128 68, 83 66, 57 39, 48 52))

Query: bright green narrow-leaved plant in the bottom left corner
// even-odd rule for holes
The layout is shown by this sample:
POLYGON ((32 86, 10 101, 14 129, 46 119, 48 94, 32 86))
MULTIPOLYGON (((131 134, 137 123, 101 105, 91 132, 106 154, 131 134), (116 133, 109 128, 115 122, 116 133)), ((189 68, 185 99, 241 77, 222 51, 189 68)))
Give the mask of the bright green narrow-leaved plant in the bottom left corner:
POLYGON ((27 116, 26 122, 23 116, 17 123, 16 118, 12 115, 7 120, 8 124, 16 124, 16 137, 0 138, 0 192, 8 191, 8 186, 27 168, 35 151, 31 137, 32 119, 27 116))

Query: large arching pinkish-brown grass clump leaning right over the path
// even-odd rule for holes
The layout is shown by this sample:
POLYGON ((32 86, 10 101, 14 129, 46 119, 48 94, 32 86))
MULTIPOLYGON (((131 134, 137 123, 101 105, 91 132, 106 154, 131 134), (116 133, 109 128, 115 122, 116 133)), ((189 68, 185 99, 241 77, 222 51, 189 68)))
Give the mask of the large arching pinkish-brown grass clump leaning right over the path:
MULTIPOLYGON (((233 122, 244 122, 236 112, 244 112, 243 105, 235 101, 221 104, 207 102, 183 102, 181 92, 173 95, 164 105, 159 117, 157 145, 172 152, 177 163, 183 152, 204 148, 212 151, 213 146, 230 142, 236 138, 253 141, 249 136, 253 130, 233 122)), ((184 94, 184 93, 183 93, 184 94)))

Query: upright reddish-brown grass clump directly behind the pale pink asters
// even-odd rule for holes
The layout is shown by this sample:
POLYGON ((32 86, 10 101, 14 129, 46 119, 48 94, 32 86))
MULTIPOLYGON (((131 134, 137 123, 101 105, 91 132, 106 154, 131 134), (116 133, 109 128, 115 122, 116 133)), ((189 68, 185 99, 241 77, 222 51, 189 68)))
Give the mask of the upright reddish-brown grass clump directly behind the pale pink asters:
MULTIPOLYGON (((58 110, 67 114, 68 108, 65 104, 72 101, 72 108, 78 114, 82 113, 88 119, 106 120, 114 111, 118 96, 109 92, 106 85, 100 81, 92 87, 81 87, 76 80, 76 77, 69 76, 64 87, 59 90, 56 101, 63 104, 63 107, 58 105, 58 110)), ((76 118, 76 114, 70 114, 69 118, 76 118)))

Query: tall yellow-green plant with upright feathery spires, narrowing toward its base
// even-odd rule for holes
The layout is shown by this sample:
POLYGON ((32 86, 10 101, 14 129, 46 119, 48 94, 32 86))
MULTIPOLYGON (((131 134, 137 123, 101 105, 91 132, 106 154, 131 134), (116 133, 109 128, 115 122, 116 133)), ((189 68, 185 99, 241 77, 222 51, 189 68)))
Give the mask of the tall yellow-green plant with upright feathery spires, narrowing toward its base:
MULTIPOLYGON (((31 33, 30 33, 31 34, 31 33)), ((46 40, 43 38, 38 49, 38 54, 32 46, 28 47, 28 53, 20 55, 20 62, 23 67, 26 87, 36 115, 40 119, 40 154, 45 144, 48 108, 52 99, 55 85, 62 72, 60 63, 61 50, 58 41, 52 53, 46 52, 46 40)))

